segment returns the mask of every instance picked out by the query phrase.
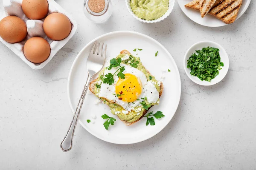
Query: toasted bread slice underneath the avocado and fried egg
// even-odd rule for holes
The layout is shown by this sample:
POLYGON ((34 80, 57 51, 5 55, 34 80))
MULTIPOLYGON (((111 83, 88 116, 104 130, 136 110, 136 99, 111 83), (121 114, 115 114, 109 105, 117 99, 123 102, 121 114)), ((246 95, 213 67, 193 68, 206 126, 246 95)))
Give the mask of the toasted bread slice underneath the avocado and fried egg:
MULTIPOLYGON (((127 51, 127 50, 121 51, 120 54, 128 54, 128 55, 131 55, 131 53, 130 53, 129 51, 127 51)), ((150 72, 149 72, 148 70, 147 70, 147 72, 150 74, 150 72)), ((97 79, 95 79, 95 80, 93 80, 92 82, 90 82, 89 90, 90 90, 93 94, 95 94, 95 93, 94 93, 94 89, 95 89, 95 87, 96 87, 96 84, 97 84, 97 79)), ((162 95, 162 93, 163 93, 163 83, 161 82, 161 84, 160 84, 159 98, 160 98, 160 96, 162 95)), ((102 98, 102 99, 104 99, 104 98, 102 98)), ((106 99, 106 100, 107 100, 107 99, 106 99)), ((113 101, 108 101, 108 102, 113 102, 113 101)), ((151 107, 152 107, 152 106, 151 106, 151 107)), ((150 108, 151 108, 151 107, 150 107, 150 108)), ((150 108, 148 108, 148 110, 149 110, 150 108)), ((140 119, 142 119, 143 116, 145 116, 145 114, 148 112, 148 110, 143 111, 142 116, 141 116, 139 119, 137 119, 136 121, 134 121, 134 122, 127 122, 127 121, 125 121, 125 120, 121 120, 120 118, 119 118, 119 119, 120 119, 122 122, 124 122, 125 125, 129 126, 129 125, 134 124, 135 122, 138 122, 140 119)))

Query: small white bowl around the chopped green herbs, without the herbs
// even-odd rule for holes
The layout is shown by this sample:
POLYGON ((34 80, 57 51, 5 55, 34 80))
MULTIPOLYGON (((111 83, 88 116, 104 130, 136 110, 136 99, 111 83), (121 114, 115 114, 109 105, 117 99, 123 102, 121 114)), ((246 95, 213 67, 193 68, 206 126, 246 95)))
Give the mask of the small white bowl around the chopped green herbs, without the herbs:
POLYGON ((216 42, 212 42, 212 41, 197 42, 188 49, 184 57, 184 69, 185 69, 186 75, 189 77, 189 79, 191 79, 193 82, 197 83, 198 85, 209 86, 209 85, 217 84, 226 76, 228 68, 229 68, 229 59, 227 56, 227 52, 224 50, 223 47, 221 47, 221 45, 219 45, 216 42), (219 75, 216 76, 214 79, 212 79, 211 82, 201 81, 201 79, 199 79, 198 77, 192 76, 190 74, 190 68, 187 68, 187 60, 189 59, 189 57, 193 53, 195 53, 196 50, 201 50, 202 48, 208 47, 208 46, 218 48, 220 50, 219 53, 221 57, 221 62, 224 63, 224 66, 222 67, 222 69, 219 70, 219 75))

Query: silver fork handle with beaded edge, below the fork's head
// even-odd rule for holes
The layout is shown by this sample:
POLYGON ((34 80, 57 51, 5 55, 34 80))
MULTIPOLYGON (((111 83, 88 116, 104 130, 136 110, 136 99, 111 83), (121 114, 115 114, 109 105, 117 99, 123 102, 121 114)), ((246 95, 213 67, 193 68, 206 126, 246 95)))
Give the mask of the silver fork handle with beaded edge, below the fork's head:
POLYGON ((80 114, 82 105, 84 103, 85 95, 86 95, 86 93, 88 91, 88 88, 89 88, 89 85, 90 85, 90 82, 91 82, 92 78, 93 78, 93 76, 91 76, 90 79, 89 79, 89 74, 88 74, 86 83, 84 85, 83 92, 81 94, 81 97, 79 99, 78 105, 76 107, 76 111, 74 113, 73 119, 72 119, 72 121, 70 123, 70 127, 69 127, 69 129, 67 131, 66 136, 64 137, 64 139, 61 142, 61 150, 63 152, 67 152, 67 151, 72 149, 73 137, 74 137, 74 133, 75 133, 75 129, 76 129, 76 124, 77 124, 77 121, 78 121, 78 118, 79 118, 79 114, 80 114), (88 79, 89 79, 89 81, 88 81, 88 79))

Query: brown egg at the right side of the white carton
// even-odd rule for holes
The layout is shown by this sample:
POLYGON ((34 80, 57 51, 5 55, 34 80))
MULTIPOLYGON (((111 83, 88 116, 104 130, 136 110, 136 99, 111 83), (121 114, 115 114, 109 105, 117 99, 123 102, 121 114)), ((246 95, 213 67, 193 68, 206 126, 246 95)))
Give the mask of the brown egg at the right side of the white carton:
POLYGON ((68 17, 61 13, 49 14, 44 20, 44 32, 52 40, 63 40, 71 31, 68 17))

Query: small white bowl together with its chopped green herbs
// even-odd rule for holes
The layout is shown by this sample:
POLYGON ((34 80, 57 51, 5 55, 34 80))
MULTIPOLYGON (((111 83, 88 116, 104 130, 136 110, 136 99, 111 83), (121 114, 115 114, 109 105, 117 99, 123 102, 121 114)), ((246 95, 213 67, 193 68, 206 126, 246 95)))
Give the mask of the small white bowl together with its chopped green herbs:
POLYGON ((184 57, 186 75, 198 85, 217 84, 226 76, 228 68, 227 52, 216 42, 197 42, 184 57))

